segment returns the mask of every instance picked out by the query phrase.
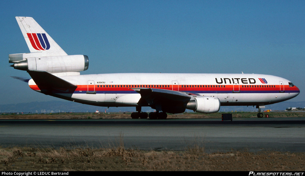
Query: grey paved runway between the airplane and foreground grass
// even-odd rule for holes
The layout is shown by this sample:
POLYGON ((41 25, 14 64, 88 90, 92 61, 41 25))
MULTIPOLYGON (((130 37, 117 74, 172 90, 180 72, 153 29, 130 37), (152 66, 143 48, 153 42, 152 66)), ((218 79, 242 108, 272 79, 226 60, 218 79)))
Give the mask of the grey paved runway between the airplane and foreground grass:
POLYGON ((305 152, 305 118, 0 120, 1 147, 305 152))

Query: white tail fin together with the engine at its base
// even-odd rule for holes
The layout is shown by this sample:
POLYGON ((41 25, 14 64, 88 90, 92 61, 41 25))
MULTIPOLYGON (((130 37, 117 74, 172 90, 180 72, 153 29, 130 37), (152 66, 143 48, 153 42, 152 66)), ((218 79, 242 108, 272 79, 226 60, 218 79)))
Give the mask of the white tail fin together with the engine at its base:
MULTIPOLYGON (((67 55, 32 17, 16 16, 30 53, 10 54, 14 69, 48 73, 81 72, 88 69, 86 55, 67 55)), ((74 73, 70 73, 74 74, 74 73)))

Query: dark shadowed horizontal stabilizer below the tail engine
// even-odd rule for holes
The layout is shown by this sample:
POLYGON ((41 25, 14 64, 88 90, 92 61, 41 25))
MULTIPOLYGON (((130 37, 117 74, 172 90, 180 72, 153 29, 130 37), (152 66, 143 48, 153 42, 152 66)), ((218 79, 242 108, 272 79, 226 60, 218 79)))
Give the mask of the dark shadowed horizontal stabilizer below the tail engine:
POLYGON ((52 75, 51 73, 45 71, 27 71, 36 85, 40 90, 60 90, 63 92, 68 92, 69 90, 75 90, 76 85, 69 83, 57 76, 52 75))

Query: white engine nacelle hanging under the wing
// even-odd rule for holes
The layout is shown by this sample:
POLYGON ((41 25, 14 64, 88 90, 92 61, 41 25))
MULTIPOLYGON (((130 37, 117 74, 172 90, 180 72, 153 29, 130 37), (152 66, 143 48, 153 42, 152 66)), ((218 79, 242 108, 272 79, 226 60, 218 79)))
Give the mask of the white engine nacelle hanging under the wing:
POLYGON ((188 102, 186 108, 200 113, 215 113, 220 109, 220 100, 214 97, 194 97, 194 100, 188 102))

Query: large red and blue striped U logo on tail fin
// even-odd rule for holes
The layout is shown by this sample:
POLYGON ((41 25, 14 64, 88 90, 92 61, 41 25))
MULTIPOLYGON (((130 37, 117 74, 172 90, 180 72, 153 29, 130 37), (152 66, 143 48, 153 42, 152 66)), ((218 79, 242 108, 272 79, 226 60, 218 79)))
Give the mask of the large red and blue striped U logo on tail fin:
POLYGON ((48 50, 50 49, 50 43, 45 33, 27 33, 32 47, 35 50, 48 50))

